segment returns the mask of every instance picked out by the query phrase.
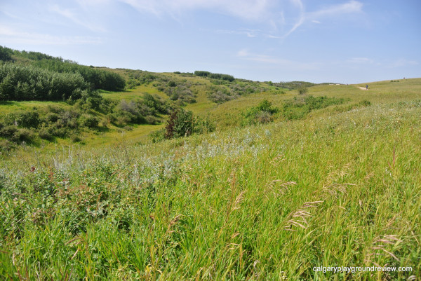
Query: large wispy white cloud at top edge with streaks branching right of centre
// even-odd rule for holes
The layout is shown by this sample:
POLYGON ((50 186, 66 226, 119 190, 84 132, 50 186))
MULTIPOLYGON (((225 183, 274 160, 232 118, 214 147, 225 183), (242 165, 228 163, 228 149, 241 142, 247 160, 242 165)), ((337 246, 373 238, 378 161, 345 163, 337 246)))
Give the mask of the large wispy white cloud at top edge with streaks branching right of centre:
MULTIPOLYGON (((81 0, 79 0, 81 1, 81 0)), ((93 3, 111 0, 88 0, 93 3)), ((180 20, 183 13, 195 10, 210 10, 216 13, 242 18, 246 21, 265 22, 271 30, 265 32, 244 32, 244 30, 217 33, 243 34, 249 37, 259 35, 267 38, 285 39, 306 22, 321 24, 328 17, 346 13, 359 13, 363 4, 349 0, 342 4, 326 6, 317 11, 306 11, 302 0, 116 0, 128 4, 142 13, 158 17, 171 15, 180 20), (288 13, 286 13, 288 11, 288 13), (288 15, 288 17, 286 17, 288 15), (281 31, 279 31, 281 30, 281 31), (284 32, 282 32, 284 30, 284 32), (286 31, 285 31, 286 30, 286 31)))

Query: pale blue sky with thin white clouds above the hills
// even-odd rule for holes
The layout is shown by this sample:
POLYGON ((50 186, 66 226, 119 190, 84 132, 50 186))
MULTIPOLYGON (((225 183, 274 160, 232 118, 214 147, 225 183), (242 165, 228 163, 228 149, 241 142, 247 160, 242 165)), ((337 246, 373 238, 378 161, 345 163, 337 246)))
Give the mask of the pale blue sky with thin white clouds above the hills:
POLYGON ((255 81, 421 77, 420 0, 0 1, 0 45, 255 81))

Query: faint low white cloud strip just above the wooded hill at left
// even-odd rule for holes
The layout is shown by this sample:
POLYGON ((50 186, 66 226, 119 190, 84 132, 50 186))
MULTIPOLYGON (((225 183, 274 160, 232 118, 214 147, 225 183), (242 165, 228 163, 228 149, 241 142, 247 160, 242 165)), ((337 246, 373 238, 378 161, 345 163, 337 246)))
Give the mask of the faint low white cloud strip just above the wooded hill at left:
POLYGON ((0 41, 4 43, 25 43, 33 45, 80 45, 99 44, 102 39, 91 36, 53 36, 29 32, 18 32, 10 27, 0 27, 0 41))

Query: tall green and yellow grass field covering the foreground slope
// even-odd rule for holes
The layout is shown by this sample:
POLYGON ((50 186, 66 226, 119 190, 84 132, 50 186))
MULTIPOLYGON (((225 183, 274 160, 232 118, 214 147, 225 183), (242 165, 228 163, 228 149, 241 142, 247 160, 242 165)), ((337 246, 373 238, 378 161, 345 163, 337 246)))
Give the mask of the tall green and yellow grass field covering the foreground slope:
POLYGON ((217 132, 152 144, 159 126, 138 125, 1 155, 0 279, 419 280, 421 79, 362 85, 316 85, 346 102, 246 127, 297 92, 199 93, 187 108, 217 132))

